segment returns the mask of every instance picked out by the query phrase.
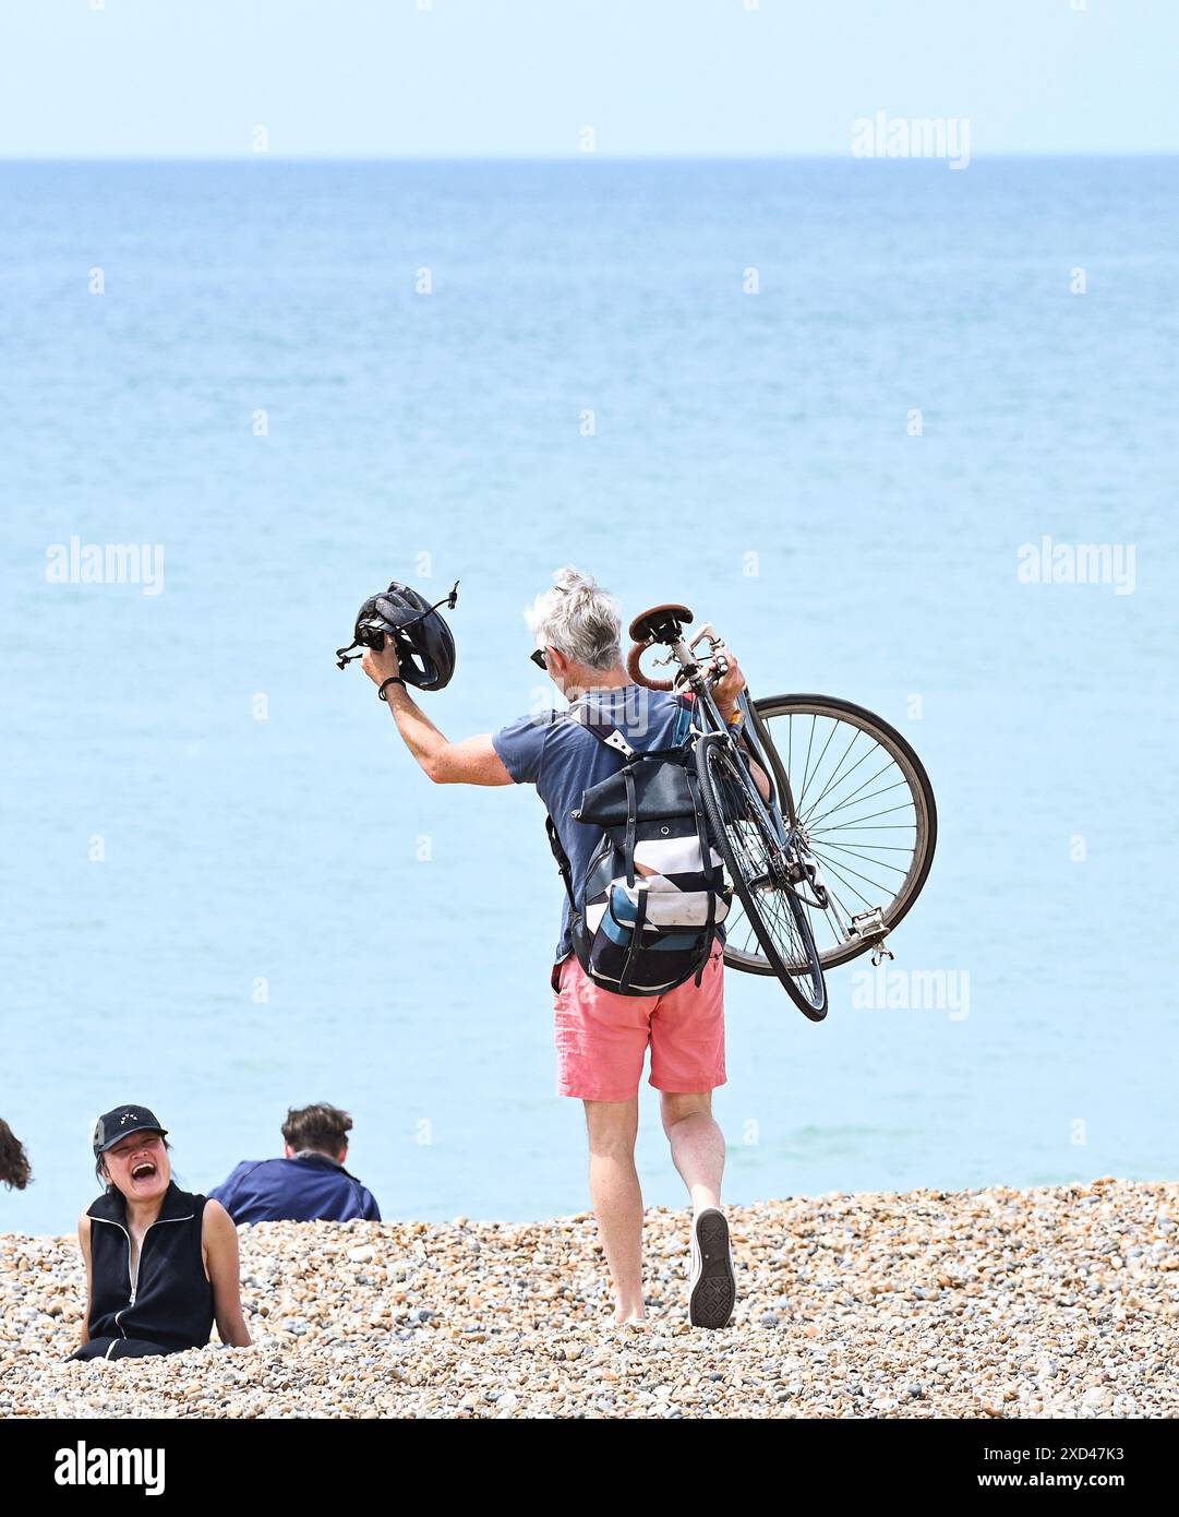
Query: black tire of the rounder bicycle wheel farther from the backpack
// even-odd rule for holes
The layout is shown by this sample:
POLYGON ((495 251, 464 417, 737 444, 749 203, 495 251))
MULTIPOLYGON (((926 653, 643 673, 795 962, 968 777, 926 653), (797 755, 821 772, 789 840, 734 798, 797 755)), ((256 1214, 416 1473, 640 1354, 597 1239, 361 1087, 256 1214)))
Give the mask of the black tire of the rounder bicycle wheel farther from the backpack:
MULTIPOLYGON (((768 731, 768 721, 774 716, 796 715, 821 716, 830 718, 832 721, 849 721, 850 725, 859 727, 859 730, 864 731, 871 740, 879 743, 879 746, 893 757, 902 774, 905 774, 914 799, 917 840, 914 845, 914 859, 909 865, 906 878, 882 913, 887 930, 893 931, 893 928, 909 913, 926 880, 929 878, 938 840, 938 810, 937 801, 934 799, 934 787, 929 783, 924 765, 914 752, 912 745, 890 722, 883 721, 883 718, 877 716, 874 711, 867 710, 867 707, 856 705, 853 701, 843 701, 838 696, 770 695, 762 696, 752 704, 756 708, 759 719, 758 739, 762 745, 773 751, 774 757, 777 757, 782 772, 785 772, 787 766, 780 762, 780 749, 774 745, 773 736, 768 731)), ((790 807, 793 812, 793 796, 790 807)), ((790 821, 791 824, 802 822, 805 825, 805 807, 802 816, 791 815, 790 821)), ((808 910, 814 910, 814 907, 808 907, 808 910)), ((873 944, 870 941, 859 944, 849 944, 844 941, 832 948, 820 948, 820 963, 823 969, 833 969, 838 965, 849 963, 852 959, 858 959, 861 954, 868 953, 871 947, 873 944)), ((750 954, 746 950, 730 948, 727 942, 724 947, 724 962, 730 968, 741 969, 746 974, 777 972, 773 965, 761 956, 750 954)))

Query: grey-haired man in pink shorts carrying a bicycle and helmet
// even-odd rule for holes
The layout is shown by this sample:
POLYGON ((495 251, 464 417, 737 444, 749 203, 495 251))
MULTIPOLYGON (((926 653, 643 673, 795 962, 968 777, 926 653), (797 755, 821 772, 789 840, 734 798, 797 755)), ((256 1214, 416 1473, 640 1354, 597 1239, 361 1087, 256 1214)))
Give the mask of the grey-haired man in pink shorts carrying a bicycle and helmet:
MULTIPOLYGON (((621 657, 617 601, 591 576, 559 569, 552 589, 527 614, 535 663, 570 701, 593 707, 615 725, 632 748, 671 745, 682 702, 635 684, 621 657)), ((736 658, 712 686, 721 716, 735 711, 744 689, 736 658)), ((596 828, 570 819, 582 793, 618 769, 615 754, 570 718, 568 711, 529 713, 497 733, 447 742, 397 677, 392 639, 364 654, 365 674, 382 686, 397 728, 436 784, 535 784, 568 856, 574 894, 590 863, 596 828)), ((755 765, 755 778, 768 781, 755 765)), ((733 1309, 736 1285, 729 1229, 720 1209, 724 1136, 712 1117, 712 1091, 724 1083, 723 947, 714 944, 700 985, 693 980, 664 995, 618 995, 594 983, 573 953, 570 903, 550 977, 556 997, 558 1092, 585 1103, 590 1141, 590 1191, 602 1247, 615 1291, 615 1323, 644 1318, 643 1192, 635 1170, 638 1085, 647 1047, 650 1083, 659 1091, 671 1159, 693 1204, 690 1320, 723 1327, 733 1309)))

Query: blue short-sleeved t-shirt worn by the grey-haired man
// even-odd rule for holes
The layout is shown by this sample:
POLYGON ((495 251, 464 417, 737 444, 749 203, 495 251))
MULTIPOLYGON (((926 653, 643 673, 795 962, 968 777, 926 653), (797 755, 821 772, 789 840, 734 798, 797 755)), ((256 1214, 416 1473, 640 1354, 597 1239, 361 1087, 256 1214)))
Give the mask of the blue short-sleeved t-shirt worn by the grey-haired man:
MULTIPOLYGON (((586 690, 582 699, 602 711, 632 748, 646 752, 650 748, 671 748, 676 740, 682 740, 693 698, 673 695, 670 690, 649 690, 643 684, 626 684, 586 690)), ((570 812, 582 804, 583 790, 623 768, 624 755, 603 748, 593 733, 573 721, 571 708, 547 708, 518 716, 493 733, 491 743, 517 784, 536 786, 568 857, 573 894, 580 901, 590 860, 602 842, 602 828, 574 821, 570 812)), ((568 918, 565 895, 555 963, 573 953, 568 918)))

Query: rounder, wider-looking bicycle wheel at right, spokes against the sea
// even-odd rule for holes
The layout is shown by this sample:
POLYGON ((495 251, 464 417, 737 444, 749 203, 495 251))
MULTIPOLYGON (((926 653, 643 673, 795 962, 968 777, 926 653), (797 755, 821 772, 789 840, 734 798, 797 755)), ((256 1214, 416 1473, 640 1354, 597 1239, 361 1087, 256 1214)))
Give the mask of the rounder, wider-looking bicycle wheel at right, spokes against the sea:
MULTIPOLYGON (((844 918, 880 910, 891 931, 911 910, 938 837, 934 789, 921 760, 879 716, 821 695, 773 695, 753 702, 758 736, 788 775, 788 822, 818 860, 844 918)), ((824 969, 867 953, 871 941, 844 934, 837 913, 805 910, 824 969)), ((729 912, 724 962, 752 974, 776 974, 749 919, 729 912)))

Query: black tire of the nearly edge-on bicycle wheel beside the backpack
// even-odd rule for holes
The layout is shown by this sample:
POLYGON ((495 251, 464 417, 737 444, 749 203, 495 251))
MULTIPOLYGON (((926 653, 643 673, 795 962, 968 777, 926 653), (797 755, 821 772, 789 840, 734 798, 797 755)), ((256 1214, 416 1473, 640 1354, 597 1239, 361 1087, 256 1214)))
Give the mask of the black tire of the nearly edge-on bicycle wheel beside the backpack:
MULTIPOLYGON (((827 1015, 829 1006, 827 983, 823 978, 823 965, 818 959, 818 948, 815 947, 806 907, 802 901, 799 901, 793 889, 787 887, 782 892, 777 892, 785 897, 787 910, 799 934, 802 950, 800 959, 808 959, 803 969, 791 971, 790 960, 779 951, 777 942, 774 941, 774 936, 762 915, 762 906, 758 903, 746 869, 738 860, 738 853, 733 845, 732 834, 729 833, 729 827, 735 825, 738 818, 730 815, 733 807, 724 793, 721 777, 715 772, 714 763, 717 766, 720 763, 726 765, 729 771, 723 777, 726 786, 735 783, 741 790, 749 792, 753 781, 743 765, 735 765, 729 760, 729 745, 730 739, 727 733, 705 733, 696 742, 696 774, 700 781, 700 796, 705 802, 705 816, 717 850, 724 860, 724 868, 732 880, 733 889, 741 900, 746 916, 761 942, 762 953, 765 954, 768 965, 765 972, 777 975, 787 995, 790 995, 791 1001, 794 1001, 803 1016, 809 1018, 812 1022, 821 1022, 827 1015), (809 994, 806 989, 808 983, 809 994)), ((749 815, 740 818, 740 821, 744 824, 753 824, 756 831, 761 834, 764 846, 773 851, 780 851, 777 836, 762 824, 761 810, 756 804, 753 804, 752 795, 749 815)))

